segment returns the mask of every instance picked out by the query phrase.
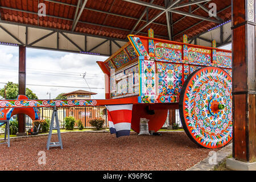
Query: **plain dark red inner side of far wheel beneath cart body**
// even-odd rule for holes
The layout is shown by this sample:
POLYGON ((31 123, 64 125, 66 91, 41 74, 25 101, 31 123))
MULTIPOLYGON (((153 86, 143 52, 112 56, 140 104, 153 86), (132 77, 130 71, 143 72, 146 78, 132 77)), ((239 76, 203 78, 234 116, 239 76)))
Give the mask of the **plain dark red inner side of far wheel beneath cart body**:
POLYGON ((134 104, 131 116, 131 129, 139 133, 139 122, 141 118, 147 118, 148 130, 154 130, 155 132, 160 130, 166 122, 168 110, 147 110, 146 104, 134 104))

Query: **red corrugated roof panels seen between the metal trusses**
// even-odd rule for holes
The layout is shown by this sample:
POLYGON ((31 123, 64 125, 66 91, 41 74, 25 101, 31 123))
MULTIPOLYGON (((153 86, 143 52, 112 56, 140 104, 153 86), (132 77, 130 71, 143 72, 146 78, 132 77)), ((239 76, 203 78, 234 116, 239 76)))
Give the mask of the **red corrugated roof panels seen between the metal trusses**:
MULTIPOLYGON (((1 0, 1 19, 10 22, 71 31, 78 1, 79 0, 1 0), (37 15, 38 3, 41 2, 46 4, 46 17, 39 17, 37 15)), ((141 1, 150 2, 150 0, 141 1)), ((189 0, 185 0, 182 1, 182 3, 187 3, 188 1, 189 0)), ((213 0, 207 3, 201 3, 201 5, 208 7, 209 3, 212 2, 217 5, 218 17, 224 21, 231 18, 230 0, 213 0)), ((155 0, 153 3, 154 5, 164 7, 164 1, 162 0, 155 0)), ((145 9, 146 6, 122 0, 88 0, 74 31, 110 38, 126 39, 145 9)), ((176 10, 188 13, 189 7, 181 7, 176 10)), ((206 18, 209 16, 207 12, 197 5, 192 5, 191 10, 195 15, 204 16, 206 18)), ((161 10, 158 9, 148 9, 148 19, 154 18, 160 12, 161 10)), ((183 34, 187 34, 188 37, 191 38, 218 24, 188 16, 183 17, 184 15, 172 13, 172 22, 175 23, 178 21, 173 26, 175 41, 182 41, 183 34)), ((137 28, 135 28, 135 31, 146 24, 146 15, 144 15, 143 20, 144 21, 140 22, 137 28)), ((154 23, 144 28, 139 35, 146 35, 147 28, 152 28, 156 38, 168 39, 166 25, 166 15, 163 14, 156 19, 154 23)))

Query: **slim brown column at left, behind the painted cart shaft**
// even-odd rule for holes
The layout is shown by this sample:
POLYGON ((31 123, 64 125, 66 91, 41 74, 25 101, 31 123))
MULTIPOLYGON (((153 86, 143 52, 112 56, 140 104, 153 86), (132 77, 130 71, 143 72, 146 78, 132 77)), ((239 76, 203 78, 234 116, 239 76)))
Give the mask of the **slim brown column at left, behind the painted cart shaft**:
MULTIPOLYGON (((26 47, 19 46, 19 95, 26 95, 26 47)), ((18 135, 24 135, 25 115, 18 114, 18 135)))

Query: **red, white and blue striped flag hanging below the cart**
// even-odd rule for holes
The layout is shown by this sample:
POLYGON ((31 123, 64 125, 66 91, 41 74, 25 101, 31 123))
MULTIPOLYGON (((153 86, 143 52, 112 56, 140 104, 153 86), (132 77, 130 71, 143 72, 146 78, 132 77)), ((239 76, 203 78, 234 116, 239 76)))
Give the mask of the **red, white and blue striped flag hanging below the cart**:
POLYGON ((115 133, 117 137, 129 136, 133 105, 106 105, 106 109, 108 110, 110 134, 115 133))

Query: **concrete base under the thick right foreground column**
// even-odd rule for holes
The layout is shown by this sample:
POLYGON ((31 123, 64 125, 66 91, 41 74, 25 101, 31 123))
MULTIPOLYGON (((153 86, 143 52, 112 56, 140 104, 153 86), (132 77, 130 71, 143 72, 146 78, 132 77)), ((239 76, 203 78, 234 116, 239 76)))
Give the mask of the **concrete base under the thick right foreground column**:
POLYGON ((233 171, 256 171, 256 162, 247 163, 241 162, 234 158, 226 159, 226 168, 229 168, 233 171))

